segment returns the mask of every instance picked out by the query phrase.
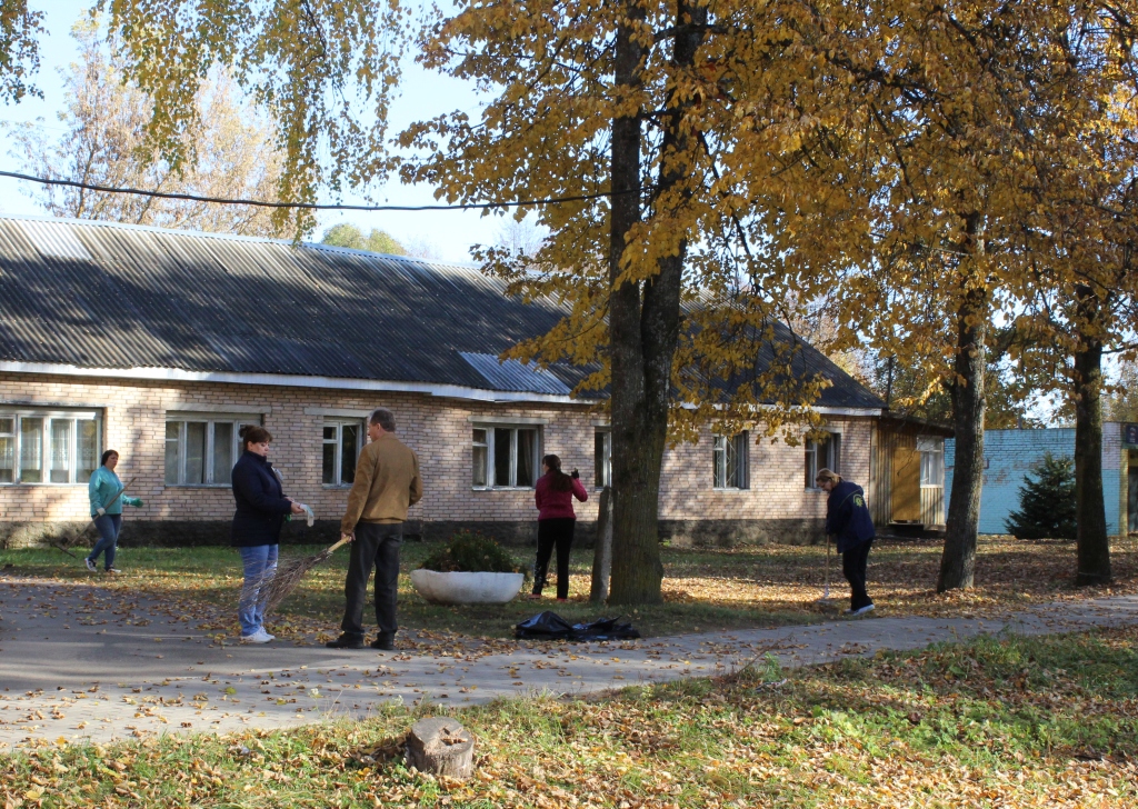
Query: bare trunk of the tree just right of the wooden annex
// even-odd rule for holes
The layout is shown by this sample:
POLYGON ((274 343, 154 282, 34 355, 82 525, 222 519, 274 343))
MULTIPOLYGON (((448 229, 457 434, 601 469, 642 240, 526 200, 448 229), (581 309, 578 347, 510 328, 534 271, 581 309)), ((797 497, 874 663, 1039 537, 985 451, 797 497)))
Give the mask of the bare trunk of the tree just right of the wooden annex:
MULTIPOLYGON (((966 254, 983 253, 980 238, 982 218, 965 220, 966 254)), ((940 559, 937 592, 967 588, 973 584, 976 564, 976 529, 980 525, 980 494, 984 479, 984 338, 988 329, 988 290, 966 272, 971 261, 963 259, 963 295, 956 311, 955 380, 953 427, 956 430, 956 459, 953 490, 946 520, 945 552, 940 559)))

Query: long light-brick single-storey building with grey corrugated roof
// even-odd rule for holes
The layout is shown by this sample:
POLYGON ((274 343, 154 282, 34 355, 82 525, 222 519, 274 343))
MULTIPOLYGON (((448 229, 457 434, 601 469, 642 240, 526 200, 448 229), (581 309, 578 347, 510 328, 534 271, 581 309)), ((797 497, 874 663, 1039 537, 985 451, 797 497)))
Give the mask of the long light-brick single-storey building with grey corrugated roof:
MULTIPOLYGON (((380 405, 421 462, 411 533, 471 526, 528 539, 543 453, 592 490, 609 474, 603 403, 569 395, 579 370, 497 361, 559 317, 553 303, 522 305, 468 267, 0 217, 0 542, 85 521, 86 480, 106 448, 146 502, 129 510, 124 542, 228 542, 237 430, 250 422, 273 434, 286 492, 323 518, 290 534, 327 538, 380 405)), ((817 404, 832 439, 790 447, 706 431, 670 449, 666 536, 816 538, 825 495, 813 472, 871 480, 883 404, 810 346, 800 361, 832 382, 817 404)), ((587 535, 595 500, 578 513, 587 535)))

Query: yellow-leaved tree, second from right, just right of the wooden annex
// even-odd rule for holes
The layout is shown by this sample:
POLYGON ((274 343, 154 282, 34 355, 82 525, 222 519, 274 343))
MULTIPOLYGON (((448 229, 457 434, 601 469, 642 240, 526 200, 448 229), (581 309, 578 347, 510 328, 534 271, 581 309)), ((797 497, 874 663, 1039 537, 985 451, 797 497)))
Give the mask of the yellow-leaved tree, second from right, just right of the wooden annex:
POLYGON ((938 591, 973 583, 989 332, 1032 295, 1038 250, 1049 248, 1023 233, 1059 198, 1047 167, 1065 151, 1062 121, 1082 119, 1067 40, 1097 30, 1113 8, 916 2, 877 17, 887 49, 830 57, 856 84, 882 88, 858 147, 873 156, 861 164, 868 171, 849 171, 865 199, 851 222, 866 232, 861 256, 839 256, 849 265, 849 322, 902 362, 931 358, 925 377, 951 399, 957 456, 938 591), (938 374, 943 324, 955 339, 938 374))

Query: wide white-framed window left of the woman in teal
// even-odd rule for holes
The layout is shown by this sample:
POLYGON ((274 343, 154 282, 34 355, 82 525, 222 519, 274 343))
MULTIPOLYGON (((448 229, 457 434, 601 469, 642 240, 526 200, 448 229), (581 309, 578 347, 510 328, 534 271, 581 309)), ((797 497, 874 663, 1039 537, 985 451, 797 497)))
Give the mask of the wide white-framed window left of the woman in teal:
POLYGON ((0 411, 0 485, 85 484, 99 465, 97 413, 0 411))

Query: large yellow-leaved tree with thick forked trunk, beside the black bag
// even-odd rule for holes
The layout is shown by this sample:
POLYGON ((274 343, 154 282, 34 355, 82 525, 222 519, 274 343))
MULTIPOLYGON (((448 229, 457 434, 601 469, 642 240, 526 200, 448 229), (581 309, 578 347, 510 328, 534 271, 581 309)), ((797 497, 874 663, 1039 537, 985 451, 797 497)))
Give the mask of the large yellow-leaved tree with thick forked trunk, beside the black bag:
POLYGON ((669 426, 769 435, 814 418, 824 382, 795 366, 789 324, 818 290, 799 283, 794 224, 841 209, 810 157, 859 109, 819 69, 830 30, 795 2, 519 0, 463 5, 420 41, 428 67, 488 100, 477 121, 412 126, 402 142, 427 157, 404 179, 453 201, 562 199, 520 209, 550 233, 533 261, 479 258, 566 307, 514 356, 602 368, 584 387, 610 394, 613 602, 660 600, 669 426))

